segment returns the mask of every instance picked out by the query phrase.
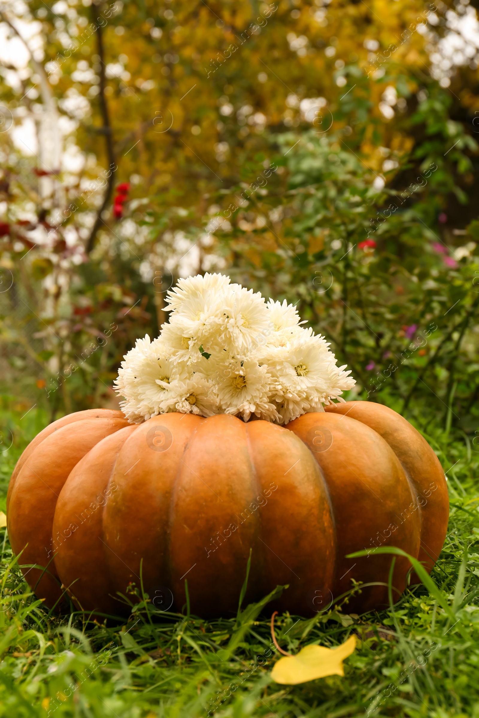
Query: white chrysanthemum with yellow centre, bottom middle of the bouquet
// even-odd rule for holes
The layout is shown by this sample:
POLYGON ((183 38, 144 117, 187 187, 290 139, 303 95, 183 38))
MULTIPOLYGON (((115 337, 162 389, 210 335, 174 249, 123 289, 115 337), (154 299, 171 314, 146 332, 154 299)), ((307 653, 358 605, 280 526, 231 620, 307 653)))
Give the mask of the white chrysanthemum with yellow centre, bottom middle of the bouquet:
POLYGON ((254 358, 225 362, 218 370, 218 401, 223 414, 238 414, 248 421, 251 414, 267 421, 279 421, 269 401, 270 375, 254 358))

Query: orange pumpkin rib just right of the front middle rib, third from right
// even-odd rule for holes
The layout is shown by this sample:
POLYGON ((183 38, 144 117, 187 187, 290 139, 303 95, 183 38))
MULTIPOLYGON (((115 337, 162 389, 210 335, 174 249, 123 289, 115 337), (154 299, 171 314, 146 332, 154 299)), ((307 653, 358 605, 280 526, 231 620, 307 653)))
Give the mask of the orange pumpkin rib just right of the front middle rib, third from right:
POLYGON ((314 589, 325 592, 329 602, 335 569, 335 529, 326 485, 311 452, 293 432, 262 421, 246 427, 264 495, 268 475, 277 486, 261 509, 264 592, 276 584, 289 584, 274 608, 308 615, 314 589), (272 467, 276 467, 274 475, 272 467))

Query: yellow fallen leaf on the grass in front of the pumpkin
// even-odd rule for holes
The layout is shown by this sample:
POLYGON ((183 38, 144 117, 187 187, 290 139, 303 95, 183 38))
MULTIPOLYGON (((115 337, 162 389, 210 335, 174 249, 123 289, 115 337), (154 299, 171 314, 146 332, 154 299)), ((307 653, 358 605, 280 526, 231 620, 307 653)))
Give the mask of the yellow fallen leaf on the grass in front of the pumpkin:
POLYGON ((291 686, 324 676, 344 676, 343 661, 353 653, 355 647, 355 635, 351 635, 345 643, 338 645, 338 648, 307 645, 297 656, 280 658, 271 671, 271 678, 276 683, 291 686))

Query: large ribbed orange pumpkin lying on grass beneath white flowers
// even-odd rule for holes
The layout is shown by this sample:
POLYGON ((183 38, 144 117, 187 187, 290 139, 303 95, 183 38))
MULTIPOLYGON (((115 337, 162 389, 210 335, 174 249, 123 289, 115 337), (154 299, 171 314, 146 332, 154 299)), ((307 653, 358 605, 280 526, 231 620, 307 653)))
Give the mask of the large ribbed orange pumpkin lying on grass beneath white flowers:
MULTIPOLYGON (((289 584, 278 610, 312 615, 352 587, 348 610, 388 602, 398 546, 428 571, 445 540, 440 462, 419 432, 380 404, 331 404, 287 426, 216 414, 80 411, 41 432, 9 486, 8 528, 37 596, 65 591, 83 610, 128 611, 134 587, 181 610, 231 616, 251 554, 246 601, 289 584), (348 559, 361 549, 368 556, 348 559), (42 568, 43 567, 43 568, 42 568), (133 586, 131 586, 133 584, 133 586), (60 587, 61 586, 61 587, 60 587)), ((410 564, 396 559, 395 597, 410 564)))

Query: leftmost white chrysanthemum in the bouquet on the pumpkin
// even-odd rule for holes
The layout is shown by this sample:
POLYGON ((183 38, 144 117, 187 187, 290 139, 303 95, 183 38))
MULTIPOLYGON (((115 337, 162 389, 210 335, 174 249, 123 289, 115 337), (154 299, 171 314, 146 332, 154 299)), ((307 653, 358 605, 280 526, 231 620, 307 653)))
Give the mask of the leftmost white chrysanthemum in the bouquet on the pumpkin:
POLYGON ((120 406, 131 423, 161 414, 161 404, 171 381, 188 376, 185 365, 174 363, 162 337, 150 341, 137 339, 134 349, 124 356, 116 391, 124 396, 120 406))

